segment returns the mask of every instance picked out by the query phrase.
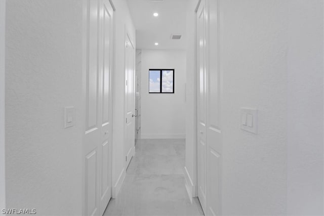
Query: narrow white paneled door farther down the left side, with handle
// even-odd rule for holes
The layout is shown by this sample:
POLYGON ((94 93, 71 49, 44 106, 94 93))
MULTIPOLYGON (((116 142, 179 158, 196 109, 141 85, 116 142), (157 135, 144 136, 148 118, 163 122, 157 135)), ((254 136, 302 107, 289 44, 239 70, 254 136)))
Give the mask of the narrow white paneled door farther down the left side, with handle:
POLYGON ((129 35, 125 41, 125 153, 126 167, 129 165, 135 148, 135 48, 129 35))

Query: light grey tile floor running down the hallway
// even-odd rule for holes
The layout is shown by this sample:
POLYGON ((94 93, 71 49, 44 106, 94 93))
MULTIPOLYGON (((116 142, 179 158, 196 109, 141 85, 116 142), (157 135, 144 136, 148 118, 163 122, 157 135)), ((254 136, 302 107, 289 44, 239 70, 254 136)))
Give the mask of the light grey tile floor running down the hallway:
POLYGON ((139 140, 135 148, 124 184, 104 215, 204 215, 185 188, 184 139, 139 140))

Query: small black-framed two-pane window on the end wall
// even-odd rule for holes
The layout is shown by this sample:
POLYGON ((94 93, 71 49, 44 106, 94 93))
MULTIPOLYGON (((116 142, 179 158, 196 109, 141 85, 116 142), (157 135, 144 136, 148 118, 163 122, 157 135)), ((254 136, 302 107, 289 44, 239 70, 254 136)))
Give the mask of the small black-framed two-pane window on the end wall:
POLYGON ((174 93, 174 69, 149 69, 148 93, 174 93))

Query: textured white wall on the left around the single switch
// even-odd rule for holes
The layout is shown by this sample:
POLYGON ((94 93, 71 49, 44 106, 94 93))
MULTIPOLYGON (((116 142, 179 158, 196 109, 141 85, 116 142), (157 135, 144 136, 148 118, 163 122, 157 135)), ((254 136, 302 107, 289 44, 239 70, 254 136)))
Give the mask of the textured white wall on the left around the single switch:
POLYGON ((7 208, 82 213, 82 4, 7 1, 7 208))

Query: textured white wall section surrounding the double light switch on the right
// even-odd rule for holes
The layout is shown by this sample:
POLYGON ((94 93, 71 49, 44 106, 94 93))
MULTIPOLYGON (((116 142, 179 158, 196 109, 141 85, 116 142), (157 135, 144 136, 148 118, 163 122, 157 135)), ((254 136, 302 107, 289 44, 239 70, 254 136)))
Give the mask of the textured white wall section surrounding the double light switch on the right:
POLYGON ((286 213, 287 8, 284 1, 221 1, 222 213, 286 213), (258 134, 240 108, 258 109, 258 134))

